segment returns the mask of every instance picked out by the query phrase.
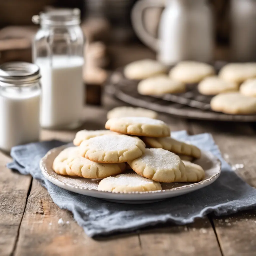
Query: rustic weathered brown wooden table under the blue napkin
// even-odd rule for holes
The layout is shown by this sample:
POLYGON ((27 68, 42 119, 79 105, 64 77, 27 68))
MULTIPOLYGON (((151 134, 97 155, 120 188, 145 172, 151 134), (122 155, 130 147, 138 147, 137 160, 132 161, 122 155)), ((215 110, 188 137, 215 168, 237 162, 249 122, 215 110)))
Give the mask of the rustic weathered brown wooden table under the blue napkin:
MULTIPOLYGON (((117 103, 84 109, 84 129, 103 129, 106 112, 117 103)), ((160 115, 172 131, 211 132, 237 174, 256 186, 255 125, 180 120, 160 115), (241 166, 240 166, 241 167, 241 166)), ((42 139, 72 140, 75 131, 42 131, 42 139)), ((52 202, 47 190, 32 179, 5 167, 0 153, 0 255, 256 255, 256 211, 217 218, 208 215, 186 226, 170 224, 108 239, 89 238, 72 214, 52 202), (62 218, 63 225, 58 224, 62 218)), ((230 184, 232 186, 232 184, 230 184)))

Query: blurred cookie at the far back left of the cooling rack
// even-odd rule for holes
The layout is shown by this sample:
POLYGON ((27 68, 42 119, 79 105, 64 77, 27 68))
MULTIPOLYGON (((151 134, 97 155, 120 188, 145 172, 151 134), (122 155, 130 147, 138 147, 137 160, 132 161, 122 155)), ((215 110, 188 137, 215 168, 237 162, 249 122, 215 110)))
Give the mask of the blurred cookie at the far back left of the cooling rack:
POLYGON ((135 80, 145 79, 165 72, 166 66, 151 59, 134 61, 124 68, 124 76, 128 79, 135 80))

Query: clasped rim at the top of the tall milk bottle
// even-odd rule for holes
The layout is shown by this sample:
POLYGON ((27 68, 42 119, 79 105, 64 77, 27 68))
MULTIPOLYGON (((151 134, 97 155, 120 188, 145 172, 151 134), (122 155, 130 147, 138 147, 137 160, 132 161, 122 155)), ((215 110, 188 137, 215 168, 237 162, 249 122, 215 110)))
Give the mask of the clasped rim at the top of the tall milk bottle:
POLYGON ((78 25, 80 24, 80 10, 74 9, 53 9, 45 13, 41 12, 39 15, 32 17, 34 24, 44 24, 53 26, 63 25, 78 25))

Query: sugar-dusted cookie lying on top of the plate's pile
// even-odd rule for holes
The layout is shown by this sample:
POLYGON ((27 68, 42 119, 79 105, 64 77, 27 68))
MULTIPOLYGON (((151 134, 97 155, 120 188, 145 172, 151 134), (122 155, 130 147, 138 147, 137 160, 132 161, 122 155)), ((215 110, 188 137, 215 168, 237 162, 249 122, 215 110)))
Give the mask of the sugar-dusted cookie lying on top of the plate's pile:
POLYGON ((112 118, 106 122, 105 128, 114 132, 137 136, 170 136, 170 127, 166 123, 146 117, 112 118))

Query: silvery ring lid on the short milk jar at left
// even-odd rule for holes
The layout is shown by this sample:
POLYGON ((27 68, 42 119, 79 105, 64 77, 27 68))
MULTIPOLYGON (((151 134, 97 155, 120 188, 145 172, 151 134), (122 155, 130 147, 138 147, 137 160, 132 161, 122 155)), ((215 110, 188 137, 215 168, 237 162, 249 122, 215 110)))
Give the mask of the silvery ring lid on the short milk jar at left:
POLYGON ((2 86, 26 86, 41 78, 37 65, 29 62, 6 62, 0 65, 2 86))

